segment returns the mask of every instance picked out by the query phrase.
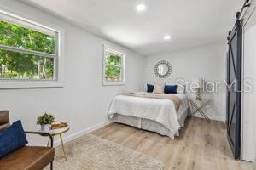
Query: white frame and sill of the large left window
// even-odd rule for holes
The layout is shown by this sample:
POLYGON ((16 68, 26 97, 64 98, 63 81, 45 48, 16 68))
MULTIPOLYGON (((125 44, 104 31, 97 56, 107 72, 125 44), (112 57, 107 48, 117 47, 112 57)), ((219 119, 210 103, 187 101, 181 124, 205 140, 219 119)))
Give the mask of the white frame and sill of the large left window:
MULTIPOLYGON (((23 54, 34 54, 41 57, 53 58, 54 59, 54 72, 53 79, 20 79, 20 78, 0 78, 0 89, 8 88, 61 88, 64 85, 63 82, 63 68, 64 68, 64 53, 63 53, 63 40, 64 30, 56 28, 51 24, 39 24, 44 23, 43 21, 33 21, 30 17, 20 17, 21 14, 15 14, 6 12, 0 9, 0 19, 13 24, 24 26, 35 31, 41 31, 44 33, 54 32, 55 34, 55 53, 48 54, 44 52, 34 51, 30 49, 16 48, 7 45, 0 44, 0 49, 8 50, 12 52, 18 52, 23 54), (33 29, 36 28, 36 29, 33 29)), ((24 16, 22 14, 22 16, 24 16)))

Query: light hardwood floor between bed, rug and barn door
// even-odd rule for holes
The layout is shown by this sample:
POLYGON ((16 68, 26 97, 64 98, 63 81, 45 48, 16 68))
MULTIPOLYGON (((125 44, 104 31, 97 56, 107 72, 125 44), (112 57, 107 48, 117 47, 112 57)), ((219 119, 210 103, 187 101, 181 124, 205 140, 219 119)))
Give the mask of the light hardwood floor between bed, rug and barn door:
POLYGON ((165 170, 247 169, 244 161, 232 158, 224 122, 189 118, 175 139, 117 123, 92 134, 152 156, 165 163, 165 170))

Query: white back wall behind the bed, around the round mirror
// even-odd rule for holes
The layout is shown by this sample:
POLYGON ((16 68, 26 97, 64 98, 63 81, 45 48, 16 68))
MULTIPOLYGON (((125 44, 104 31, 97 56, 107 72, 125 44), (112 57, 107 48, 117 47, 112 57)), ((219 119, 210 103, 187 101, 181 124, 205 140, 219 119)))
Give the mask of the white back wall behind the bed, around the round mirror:
MULTIPOLYGON (((150 56, 146 59, 145 83, 175 83, 178 78, 195 82, 201 77, 205 78, 206 82, 223 82, 226 75, 226 52, 227 46, 223 42, 179 50, 172 54, 150 56), (160 60, 167 60, 172 65, 172 74, 166 79, 154 75, 154 65, 160 60)), ((224 92, 207 94, 207 97, 212 99, 212 104, 205 108, 207 115, 212 119, 224 121, 224 92)))

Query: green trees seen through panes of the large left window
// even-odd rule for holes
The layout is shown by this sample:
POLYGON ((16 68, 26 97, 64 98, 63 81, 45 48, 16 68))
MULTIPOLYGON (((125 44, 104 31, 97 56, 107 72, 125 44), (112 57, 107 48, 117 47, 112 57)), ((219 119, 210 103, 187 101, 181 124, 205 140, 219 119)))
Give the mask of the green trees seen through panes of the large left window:
MULTIPOLYGON (((0 20, 0 45, 55 54, 55 36, 0 20)), ((55 59, 0 49, 0 79, 54 79, 55 59)))

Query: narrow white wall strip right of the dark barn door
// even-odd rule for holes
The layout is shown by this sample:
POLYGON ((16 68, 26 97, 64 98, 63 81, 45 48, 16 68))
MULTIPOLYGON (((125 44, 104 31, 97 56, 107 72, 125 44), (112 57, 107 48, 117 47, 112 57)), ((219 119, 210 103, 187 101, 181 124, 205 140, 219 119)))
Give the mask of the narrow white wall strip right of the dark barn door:
POLYGON ((246 161, 256 159, 256 115, 255 115, 255 72, 256 72, 256 13, 253 12, 244 28, 243 77, 250 81, 253 91, 242 95, 241 157, 246 161))

